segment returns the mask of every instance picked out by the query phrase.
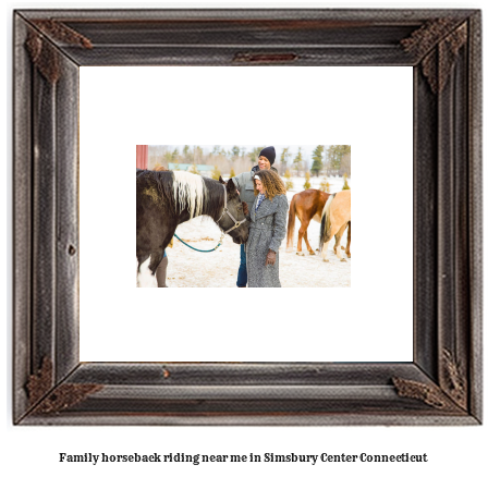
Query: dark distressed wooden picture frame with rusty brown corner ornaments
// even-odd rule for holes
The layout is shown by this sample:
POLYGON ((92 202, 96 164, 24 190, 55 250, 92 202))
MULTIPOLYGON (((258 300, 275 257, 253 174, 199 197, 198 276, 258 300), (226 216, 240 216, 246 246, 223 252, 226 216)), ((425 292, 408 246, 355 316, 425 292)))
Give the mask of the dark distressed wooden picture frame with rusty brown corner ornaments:
POLYGON ((481 423, 477 10, 14 12, 13 421, 481 423), (78 68, 410 65, 412 363, 80 363, 78 68))

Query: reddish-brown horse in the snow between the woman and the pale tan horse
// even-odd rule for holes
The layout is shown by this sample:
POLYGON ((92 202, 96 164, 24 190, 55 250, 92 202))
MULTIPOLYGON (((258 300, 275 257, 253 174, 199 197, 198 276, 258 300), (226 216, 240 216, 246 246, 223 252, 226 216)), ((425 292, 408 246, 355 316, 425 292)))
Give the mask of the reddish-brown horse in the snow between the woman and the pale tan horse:
MULTIPOLYGON (((288 232, 286 232, 286 252, 293 250, 293 234, 295 232, 295 216, 298 217, 301 227, 298 229, 298 244, 296 247, 296 255, 305 255, 302 252, 302 238, 305 240, 305 245, 310 255, 315 255, 308 243, 307 229, 312 220, 320 223, 324 207, 330 194, 322 191, 317 191, 316 188, 308 188, 298 194, 295 194, 290 204, 290 210, 288 215, 288 232)), ((344 231, 342 231, 343 233, 344 231)), ((342 233, 335 235, 335 245, 333 247, 334 252, 342 238, 342 233)), ((345 247, 345 254, 351 258, 351 222, 349 222, 347 231, 347 245, 345 247)))

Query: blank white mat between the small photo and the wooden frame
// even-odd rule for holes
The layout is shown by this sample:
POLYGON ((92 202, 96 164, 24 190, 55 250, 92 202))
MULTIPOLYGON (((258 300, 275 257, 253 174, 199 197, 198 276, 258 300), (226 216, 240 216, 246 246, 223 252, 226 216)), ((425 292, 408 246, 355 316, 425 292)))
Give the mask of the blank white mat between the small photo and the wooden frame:
POLYGON ((81 70, 82 360, 160 360, 162 342, 171 360, 412 360, 412 68, 81 70), (134 286, 134 146, 219 138, 352 146, 350 289, 252 289, 240 305, 236 288, 134 286), (117 163, 117 185, 94 163, 117 163))

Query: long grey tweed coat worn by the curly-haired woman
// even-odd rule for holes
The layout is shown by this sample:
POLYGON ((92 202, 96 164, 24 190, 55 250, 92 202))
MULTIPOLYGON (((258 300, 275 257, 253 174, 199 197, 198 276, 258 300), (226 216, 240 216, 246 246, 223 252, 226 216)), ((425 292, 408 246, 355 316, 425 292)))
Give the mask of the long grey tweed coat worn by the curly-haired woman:
POLYGON ((249 207, 251 227, 246 243, 247 286, 281 286, 278 249, 286 234, 288 199, 284 194, 265 198, 259 208, 249 207), (277 253, 274 265, 266 265, 269 250, 277 253))

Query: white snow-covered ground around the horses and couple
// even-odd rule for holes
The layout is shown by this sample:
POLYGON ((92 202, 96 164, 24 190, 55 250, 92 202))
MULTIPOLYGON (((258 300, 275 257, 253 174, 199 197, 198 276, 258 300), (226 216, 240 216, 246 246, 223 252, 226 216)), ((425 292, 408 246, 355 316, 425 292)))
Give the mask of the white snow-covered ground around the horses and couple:
MULTIPOLYGON (((227 179, 227 178, 225 178, 227 179)), ((321 179, 310 179, 312 188, 319 188, 321 179)), ((288 192, 289 203, 292 197, 303 191, 305 178, 294 178, 294 187, 288 192)), ((342 178, 329 178, 331 193, 339 192, 343 186, 342 178)), ((351 179, 347 180, 351 186, 351 179)), ((351 286, 351 259, 344 252, 346 261, 340 261, 332 254, 333 241, 329 244, 329 262, 322 261, 320 255, 308 255, 305 242, 302 249, 305 256, 296 255, 300 220, 295 221, 295 237, 293 252, 285 253, 286 243, 283 240, 280 247, 280 281, 283 288, 331 288, 351 286)), ((312 221, 308 227, 308 242, 314 250, 318 248, 320 224, 312 221)), ((213 248, 220 238, 220 230, 217 224, 207 217, 197 217, 182 223, 176 229, 176 235, 198 249, 213 248)), ((342 245, 345 247, 347 233, 342 236, 342 245)), ((169 257, 167 285, 169 288, 233 288, 237 279, 240 265, 240 245, 232 242, 225 235, 222 245, 211 253, 199 253, 188 248, 174 238, 172 248, 167 249, 169 257)), ((353 242, 351 241, 351 253, 353 242)), ((147 265, 146 262, 145 265, 147 265)), ((142 267, 144 286, 157 286, 156 280, 149 277, 147 267, 142 267)))

